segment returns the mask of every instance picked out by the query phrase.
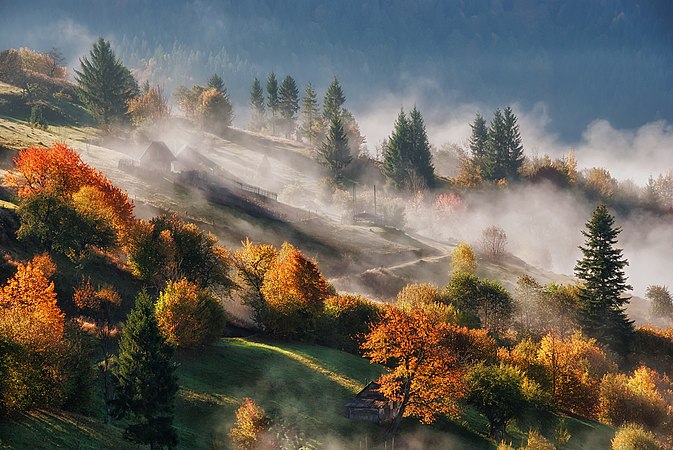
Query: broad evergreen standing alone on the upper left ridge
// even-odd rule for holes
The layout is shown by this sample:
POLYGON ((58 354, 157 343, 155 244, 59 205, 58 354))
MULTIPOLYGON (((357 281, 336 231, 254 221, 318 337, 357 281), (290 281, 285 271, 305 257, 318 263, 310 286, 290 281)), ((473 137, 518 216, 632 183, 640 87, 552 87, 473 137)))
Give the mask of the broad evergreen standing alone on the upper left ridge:
POLYGON ((127 103, 139 94, 138 83, 103 38, 93 44, 89 57, 75 70, 77 93, 89 112, 107 127, 126 120, 127 103))

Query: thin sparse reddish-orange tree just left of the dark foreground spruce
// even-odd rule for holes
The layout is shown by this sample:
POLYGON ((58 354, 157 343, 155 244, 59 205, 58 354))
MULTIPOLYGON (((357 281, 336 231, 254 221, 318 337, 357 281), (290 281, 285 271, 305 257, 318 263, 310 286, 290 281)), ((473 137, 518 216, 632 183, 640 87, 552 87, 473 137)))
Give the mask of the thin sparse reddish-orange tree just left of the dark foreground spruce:
POLYGON ((110 382, 110 362, 114 348, 114 328, 117 310, 121 304, 119 293, 110 286, 94 288, 90 278, 82 281, 73 293, 73 303, 85 319, 91 320, 95 327, 98 345, 103 355, 100 370, 103 374, 103 400, 106 416, 111 416, 112 386, 110 382))

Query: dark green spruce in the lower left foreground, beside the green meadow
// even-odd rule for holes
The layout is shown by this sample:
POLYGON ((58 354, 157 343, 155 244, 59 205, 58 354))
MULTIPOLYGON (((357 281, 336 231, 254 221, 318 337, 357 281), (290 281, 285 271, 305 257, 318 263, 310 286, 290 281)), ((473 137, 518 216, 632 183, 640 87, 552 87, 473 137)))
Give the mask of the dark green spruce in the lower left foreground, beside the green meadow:
POLYGON ((173 409, 178 384, 172 356, 173 348, 159 331, 154 302, 142 291, 121 333, 113 369, 113 414, 131 416, 126 437, 152 449, 177 444, 173 409))

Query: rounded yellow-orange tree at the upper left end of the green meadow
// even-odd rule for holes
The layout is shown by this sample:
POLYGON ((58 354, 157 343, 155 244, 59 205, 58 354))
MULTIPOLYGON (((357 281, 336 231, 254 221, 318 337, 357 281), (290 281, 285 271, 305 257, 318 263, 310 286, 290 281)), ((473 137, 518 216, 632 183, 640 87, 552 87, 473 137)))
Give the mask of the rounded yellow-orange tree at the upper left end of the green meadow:
POLYGON ((224 333, 226 314, 220 302, 206 289, 185 278, 169 281, 156 305, 159 329, 178 348, 198 348, 224 333))

